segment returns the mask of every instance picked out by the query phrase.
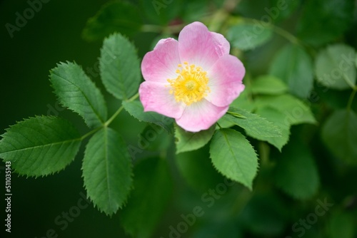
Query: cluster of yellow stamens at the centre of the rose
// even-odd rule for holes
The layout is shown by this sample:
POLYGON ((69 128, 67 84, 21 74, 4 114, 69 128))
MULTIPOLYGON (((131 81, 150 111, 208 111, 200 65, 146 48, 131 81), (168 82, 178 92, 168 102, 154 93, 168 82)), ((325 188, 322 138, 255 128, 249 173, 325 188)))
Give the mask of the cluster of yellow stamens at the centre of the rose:
POLYGON ((191 105, 206 97, 210 92, 208 77, 207 72, 202 71, 199 66, 196 67, 194 64, 188 66, 187 62, 183 62, 183 65, 178 65, 177 78, 167 81, 171 86, 170 93, 174 94, 176 101, 191 105))

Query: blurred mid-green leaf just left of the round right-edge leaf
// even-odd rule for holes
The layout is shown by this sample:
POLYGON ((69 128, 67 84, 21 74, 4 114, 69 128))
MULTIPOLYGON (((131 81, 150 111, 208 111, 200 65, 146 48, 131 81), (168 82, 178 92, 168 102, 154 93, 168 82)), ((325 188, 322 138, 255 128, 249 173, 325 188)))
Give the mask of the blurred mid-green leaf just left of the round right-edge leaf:
POLYGON ((307 98, 313 88, 313 65, 306 51, 288 44, 276 53, 269 74, 281 78, 291 93, 307 98))

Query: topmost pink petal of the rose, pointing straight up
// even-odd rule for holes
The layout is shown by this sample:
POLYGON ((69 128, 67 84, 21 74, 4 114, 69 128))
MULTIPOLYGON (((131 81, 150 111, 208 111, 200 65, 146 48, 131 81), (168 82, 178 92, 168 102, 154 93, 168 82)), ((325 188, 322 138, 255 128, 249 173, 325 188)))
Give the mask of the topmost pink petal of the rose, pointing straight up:
POLYGON ((222 35, 208 31, 201 22, 185 26, 178 36, 181 62, 201 66, 207 71, 218 58, 229 53, 229 43, 222 35))

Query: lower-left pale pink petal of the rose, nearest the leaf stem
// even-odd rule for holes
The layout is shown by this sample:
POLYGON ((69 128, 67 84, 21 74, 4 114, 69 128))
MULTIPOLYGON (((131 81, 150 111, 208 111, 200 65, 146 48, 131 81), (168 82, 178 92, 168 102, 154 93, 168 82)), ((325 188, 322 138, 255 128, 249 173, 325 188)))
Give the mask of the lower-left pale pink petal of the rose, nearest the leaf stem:
POLYGON ((176 102, 170 88, 163 83, 143 82, 139 87, 141 103, 144 111, 154 111, 170 118, 180 118, 186 104, 176 102))

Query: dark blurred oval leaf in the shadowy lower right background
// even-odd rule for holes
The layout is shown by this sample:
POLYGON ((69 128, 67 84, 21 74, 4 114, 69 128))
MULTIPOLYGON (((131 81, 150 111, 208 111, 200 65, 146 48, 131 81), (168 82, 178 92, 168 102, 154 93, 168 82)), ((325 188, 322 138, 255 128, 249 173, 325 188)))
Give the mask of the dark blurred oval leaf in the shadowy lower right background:
POLYGON ((298 141, 292 141, 283 149, 273 175, 276 186, 297 199, 311 198, 318 190, 318 170, 313 155, 298 141))

